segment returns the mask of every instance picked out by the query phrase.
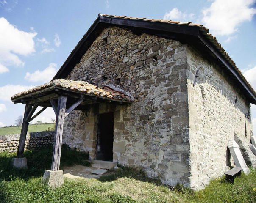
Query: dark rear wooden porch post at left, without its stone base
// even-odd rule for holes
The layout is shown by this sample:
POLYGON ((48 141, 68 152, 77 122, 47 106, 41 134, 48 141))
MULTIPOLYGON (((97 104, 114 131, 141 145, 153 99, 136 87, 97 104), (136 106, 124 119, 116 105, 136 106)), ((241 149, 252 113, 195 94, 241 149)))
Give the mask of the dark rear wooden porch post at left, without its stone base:
POLYGON ((18 146, 18 151, 17 151, 17 158, 21 158, 24 153, 24 148, 25 148, 25 142, 26 142, 26 137, 27 137, 27 132, 28 132, 28 122, 26 121, 26 118, 31 112, 32 105, 26 104, 25 107, 25 112, 24 112, 24 117, 23 117, 23 122, 22 122, 22 127, 21 127, 21 133, 19 137, 19 146, 18 146))

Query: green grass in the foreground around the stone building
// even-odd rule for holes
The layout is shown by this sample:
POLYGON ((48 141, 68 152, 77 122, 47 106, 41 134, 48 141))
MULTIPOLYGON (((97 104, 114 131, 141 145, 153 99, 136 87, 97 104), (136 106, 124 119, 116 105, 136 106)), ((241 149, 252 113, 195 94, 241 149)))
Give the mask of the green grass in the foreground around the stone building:
MULTIPOLYGON (((0 153, 1 203, 233 203, 256 202, 256 169, 242 173, 234 184, 223 177, 212 180, 199 192, 182 186, 170 188, 159 180, 147 178, 141 170, 120 166, 99 179, 64 179, 64 186, 51 189, 40 184, 45 169, 50 168, 52 148, 25 151, 28 170, 11 169, 14 154, 0 153)), ((88 154, 64 147, 61 167, 88 165, 88 154), (83 160, 81 162, 81 160, 83 160)))

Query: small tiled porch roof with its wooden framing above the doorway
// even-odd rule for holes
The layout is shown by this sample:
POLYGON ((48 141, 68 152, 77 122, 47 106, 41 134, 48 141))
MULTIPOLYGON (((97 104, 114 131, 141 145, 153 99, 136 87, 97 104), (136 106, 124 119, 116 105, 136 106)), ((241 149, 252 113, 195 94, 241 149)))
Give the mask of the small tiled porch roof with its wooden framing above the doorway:
POLYGON ((133 101, 132 96, 116 88, 110 88, 106 85, 92 85, 80 80, 73 81, 66 79, 56 79, 28 91, 17 93, 11 97, 11 101, 14 104, 37 103, 42 107, 51 107, 50 99, 58 99, 60 94, 68 96, 67 106, 72 105, 76 99, 83 99, 83 102, 79 106, 98 102, 117 102, 122 104, 133 101))

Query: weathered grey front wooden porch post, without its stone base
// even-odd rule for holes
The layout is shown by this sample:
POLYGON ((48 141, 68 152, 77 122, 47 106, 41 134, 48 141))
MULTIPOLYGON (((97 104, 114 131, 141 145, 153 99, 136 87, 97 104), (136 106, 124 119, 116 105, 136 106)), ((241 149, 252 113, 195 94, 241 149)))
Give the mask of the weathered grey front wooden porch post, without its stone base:
POLYGON ((58 107, 56 115, 55 124, 55 135, 53 143, 53 158, 51 170, 59 170, 60 160, 61 160, 61 144, 62 144, 62 133, 63 133, 63 123, 66 112, 66 102, 67 96, 60 95, 58 97, 58 107))

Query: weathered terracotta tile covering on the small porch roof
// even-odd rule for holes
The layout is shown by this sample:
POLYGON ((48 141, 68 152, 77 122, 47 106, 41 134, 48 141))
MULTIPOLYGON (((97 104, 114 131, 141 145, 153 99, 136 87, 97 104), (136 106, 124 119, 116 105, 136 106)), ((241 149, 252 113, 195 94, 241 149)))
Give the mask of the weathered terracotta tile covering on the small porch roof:
POLYGON ((88 82, 85 81, 73 81, 73 80, 66 80, 66 79, 55 79, 49 83, 46 83, 44 85, 36 86, 35 88, 32 88, 28 91, 24 91, 21 93, 17 93, 14 96, 11 97, 11 100, 17 99, 20 96, 25 96, 26 94, 33 93, 39 90, 42 90, 44 88, 49 88, 51 86, 58 86, 62 88, 67 88, 71 90, 75 90, 78 92, 85 92, 85 93, 90 93, 94 94, 97 96, 103 96, 103 97, 108 97, 111 99, 117 99, 117 100, 125 100, 132 102, 133 98, 131 96, 128 96, 127 94, 121 92, 121 91, 116 91, 108 86, 100 86, 100 85, 92 85, 88 82))

